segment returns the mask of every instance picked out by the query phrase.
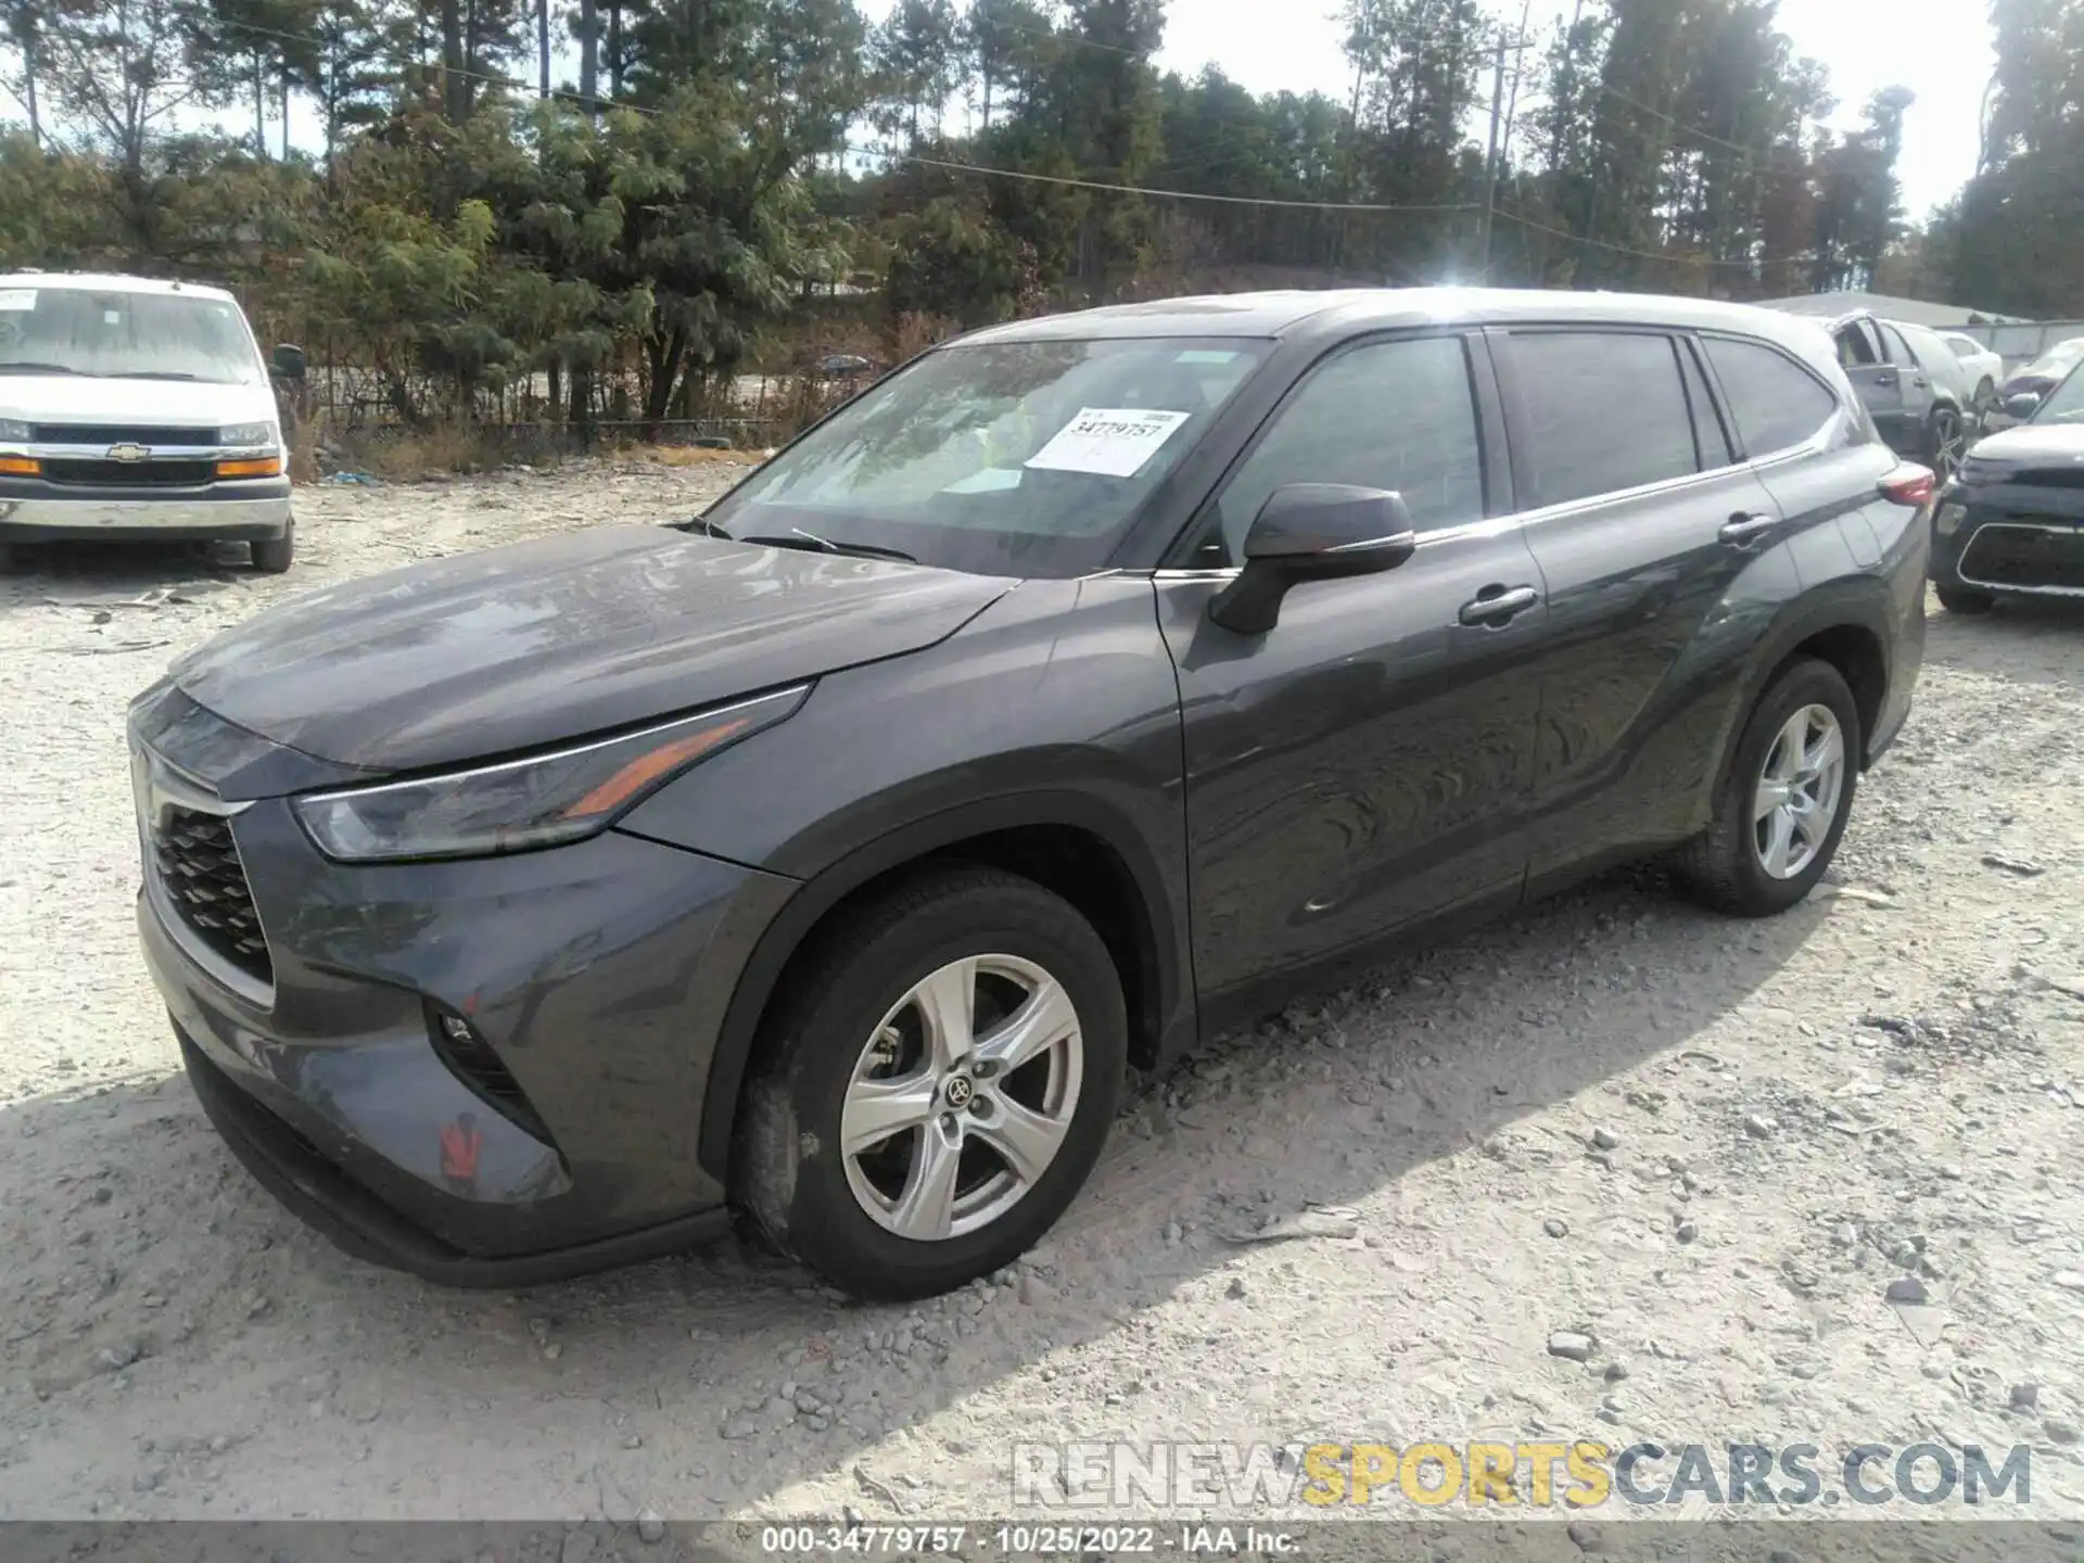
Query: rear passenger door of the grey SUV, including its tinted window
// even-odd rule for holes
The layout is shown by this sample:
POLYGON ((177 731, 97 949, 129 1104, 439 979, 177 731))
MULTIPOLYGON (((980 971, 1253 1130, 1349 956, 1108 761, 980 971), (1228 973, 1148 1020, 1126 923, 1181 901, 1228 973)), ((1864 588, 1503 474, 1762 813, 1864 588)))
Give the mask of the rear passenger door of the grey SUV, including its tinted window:
POLYGON ((1757 634, 1732 602, 1738 577, 1765 571, 1782 592, 1794 577, 1780 508, 1738 461, 1686 336, 1498 336, 1513 477, 1532 496, 1525 534, 1548 584, 1530 832, 1540 882, 1692 829, 1726 686, 1757 634))

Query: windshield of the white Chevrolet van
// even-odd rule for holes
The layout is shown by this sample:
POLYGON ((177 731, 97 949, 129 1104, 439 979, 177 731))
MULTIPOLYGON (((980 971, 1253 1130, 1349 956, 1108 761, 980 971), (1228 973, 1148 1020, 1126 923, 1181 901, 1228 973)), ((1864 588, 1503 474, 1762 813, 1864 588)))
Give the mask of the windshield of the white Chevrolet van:
POLYGON ((252 331, 227 298, 4 286, 0 375, 265 379, 252 331))

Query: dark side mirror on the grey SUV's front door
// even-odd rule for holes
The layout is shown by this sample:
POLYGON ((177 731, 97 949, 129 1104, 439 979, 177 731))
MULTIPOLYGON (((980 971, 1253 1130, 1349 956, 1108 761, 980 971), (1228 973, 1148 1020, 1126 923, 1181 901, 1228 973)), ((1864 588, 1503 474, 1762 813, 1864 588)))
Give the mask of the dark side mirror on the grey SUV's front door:
POLYGON ((1403 494, 1344 483, 1277 488, 1244 534, 1244 569, 1209 602, 1209 617, 1240 636, 1263 636, 1280 623, 1288 588, 1396 569, 1417 546, 1403 494))

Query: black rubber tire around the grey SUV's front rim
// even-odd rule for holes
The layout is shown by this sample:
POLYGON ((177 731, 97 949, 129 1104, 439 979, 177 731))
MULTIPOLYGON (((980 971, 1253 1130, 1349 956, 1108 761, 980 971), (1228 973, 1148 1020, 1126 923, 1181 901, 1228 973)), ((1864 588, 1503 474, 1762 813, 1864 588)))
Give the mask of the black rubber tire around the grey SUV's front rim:
POLYGON ((1013 1263, 1071 1205, 1121 1100, 1127 1017, 1100 936, 1067 900, 1029 879, 950 865, 842 915, 813 940, 761 1029, 763 1057, 746 1086, 731 1155, 734 1202, 786 1257, 863 1298, 934 1296, 1013 1263), (977 977, 948 975, 952 963, 973 957, 992 957, 979 963, 977 977), (1015 967, 1025 971, 1007 975, 1015 967), (979 1017, 986 1004, 992 1009, 992 1021, 977 1025, 982 1055, 1009 1036, 1000 1019, 1034 1013, 1025 1004, 1040 988, 1021 996, 1021 984, 1036 973, 1055 979, 1055 992, 1069 1000, 1073 1029, 996 1086, 979 1073, 954 1096, 954 1075, 965 1071, 934 1069, 934 1027, 913 1002, 915 988, 929 975, 967 984, 979 1017), (871 1048, 888 1048, 888 1057, 877 1061, 871 1048), (940 1092, 923 1121, 863 1155, 844 1155, 842 1119, 857 1144, 867 1144, 861 1086, 877 1080, 913 1105, 936 1080, 940 1092), (1038 1080, 1046 1082, 1040 1092, 1038 1080), (1063 1094, 1067 1080, 1071 1094, 1063 1094), (904 1092, 904 1082, 927 1084, 904 1092), (1057 1113, 1055 1152, 1027 1180, 992 1138, 994 1121, 1019 1121, 998 1117, 1009 1098, 1027 1109, 1029 1123, 1057 1113), (954 1163, 936 1165, 952 1165, 950 1177, 967 1182, 950 1184, 952 1205, 940 1209, 952 1219, 938 1223, 942 1234, 923 1236, 936 1221, 911 1215, 907 1196, 917 1196, 923 1182, 929 1136, 946 1144, 950 1132, 961 1150, 954 1163), (971 1148, 979 1140, 982 1148, 971 1148), (988 1180, 982 1186, 979 1175, 988 1180), (917 1232, 898 1230, 907 1223, 917 1232))

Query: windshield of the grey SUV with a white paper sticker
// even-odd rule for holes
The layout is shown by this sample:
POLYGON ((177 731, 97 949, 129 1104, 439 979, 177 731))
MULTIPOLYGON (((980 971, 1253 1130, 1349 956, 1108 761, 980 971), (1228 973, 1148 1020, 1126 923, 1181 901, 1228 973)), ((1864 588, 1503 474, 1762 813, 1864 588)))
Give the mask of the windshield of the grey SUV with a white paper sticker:
POLYGON ((736 538, 900 552, 977 575, 1107 565, 1265 342, 942 348, 844 406, 709 513, 736 538))

